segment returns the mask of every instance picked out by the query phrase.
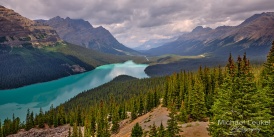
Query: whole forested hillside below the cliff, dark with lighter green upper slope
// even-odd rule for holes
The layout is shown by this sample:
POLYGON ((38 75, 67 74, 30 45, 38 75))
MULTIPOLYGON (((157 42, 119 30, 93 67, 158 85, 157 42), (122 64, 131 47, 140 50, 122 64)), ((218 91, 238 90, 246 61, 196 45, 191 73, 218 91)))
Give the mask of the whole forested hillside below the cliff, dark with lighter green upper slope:
POLYGON ((43 48, 28 44, 0 46, 0 58, 0 89, 50 81, 90 71, 100 65, 145 60, 143 57, 100 53, 64 42, 43 48))

